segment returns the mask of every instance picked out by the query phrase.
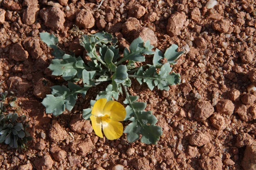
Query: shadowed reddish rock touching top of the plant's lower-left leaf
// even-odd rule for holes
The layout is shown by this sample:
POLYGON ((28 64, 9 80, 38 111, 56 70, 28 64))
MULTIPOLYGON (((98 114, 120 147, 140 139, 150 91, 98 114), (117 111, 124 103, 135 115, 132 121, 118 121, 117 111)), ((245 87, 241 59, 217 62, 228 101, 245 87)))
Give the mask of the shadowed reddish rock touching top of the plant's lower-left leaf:
POLYGON ((47 94, 51 94, 52 90, 50 87, 52 87, 53 85, 54 84, 48 79, 41 78, 35 84, 33 94, 40 99, 44 99, 47 94))

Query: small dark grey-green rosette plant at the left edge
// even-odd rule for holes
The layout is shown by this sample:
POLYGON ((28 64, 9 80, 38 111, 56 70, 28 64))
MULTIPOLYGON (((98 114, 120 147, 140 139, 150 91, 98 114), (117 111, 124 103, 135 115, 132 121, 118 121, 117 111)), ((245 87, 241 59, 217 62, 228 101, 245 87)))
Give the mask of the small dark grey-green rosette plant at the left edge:
POLYGON ((30 133, 26 130, 29 125, 24 127, 23 123, 17 122, 18 117, 17 113, 9 113, 6 116, 0 114, 0 143, 4 142, 15 148, 26 148, 26 142, 32 140, 30 133))

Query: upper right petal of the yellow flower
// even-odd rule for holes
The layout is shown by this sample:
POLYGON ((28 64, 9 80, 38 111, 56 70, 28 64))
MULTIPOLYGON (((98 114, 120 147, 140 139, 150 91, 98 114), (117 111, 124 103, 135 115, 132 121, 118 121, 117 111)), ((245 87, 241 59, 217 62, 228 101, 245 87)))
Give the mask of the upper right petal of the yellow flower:
POLYGON ((106 103, 103 114, 108 114, 112 120, 121 122, 125 119, 126 111, 125 107, 119 102, 110 100, 106 103))

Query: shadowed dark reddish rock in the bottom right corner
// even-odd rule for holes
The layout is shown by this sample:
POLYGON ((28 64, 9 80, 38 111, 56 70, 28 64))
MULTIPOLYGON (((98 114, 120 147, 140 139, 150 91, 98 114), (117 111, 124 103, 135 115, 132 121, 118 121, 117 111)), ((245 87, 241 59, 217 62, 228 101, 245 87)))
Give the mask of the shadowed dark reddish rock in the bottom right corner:
POLYGON ((256 146, 247 146, 241 161, 244 170, 256 170, 256 146))

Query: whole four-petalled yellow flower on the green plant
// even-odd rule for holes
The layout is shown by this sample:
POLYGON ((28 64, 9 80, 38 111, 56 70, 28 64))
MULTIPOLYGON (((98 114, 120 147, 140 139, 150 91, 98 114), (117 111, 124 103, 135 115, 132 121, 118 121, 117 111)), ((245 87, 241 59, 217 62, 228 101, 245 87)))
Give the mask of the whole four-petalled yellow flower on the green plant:
POLYGON ((123 125, 120 123, 125 119, 125 107, 116 101, 99 99, 93 105, 92 121, 93 130, 97 136, 103 138, 103 132, 107 139, 114 140, 122 136, 123 125))

